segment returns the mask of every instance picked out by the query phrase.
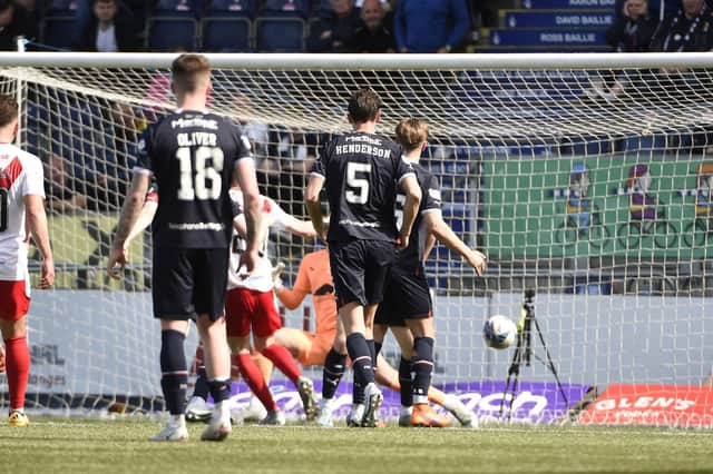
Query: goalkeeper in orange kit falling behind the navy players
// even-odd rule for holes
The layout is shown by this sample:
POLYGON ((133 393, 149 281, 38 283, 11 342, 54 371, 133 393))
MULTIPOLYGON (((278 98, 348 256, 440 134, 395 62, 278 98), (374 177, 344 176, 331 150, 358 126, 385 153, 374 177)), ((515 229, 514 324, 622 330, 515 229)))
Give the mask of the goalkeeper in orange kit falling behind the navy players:
MULTIPOLYGON (((290 349, 302 365, 324 367, 318 425, 328 427, 333 424, 334 394, 346 367, 346 335, 342 325, 338 324, 334 286, 326 249, 304 255, 292 289, 284 287, 280 275, 275 274, 275 295, 287 308, 299 307, 309 294, 312 295, 316 313, 315 332, 283 327, 275 333, 275 343, 290 349)), ((397 392, 401 388, 399 374, 381 355, 377 361, 375 378, 379 385, 397 392)), ((430 387, 428 397, 448 409, 462 426, 469 427, 475 423, 472 412, 455 395, 447 395, 430 387)))

